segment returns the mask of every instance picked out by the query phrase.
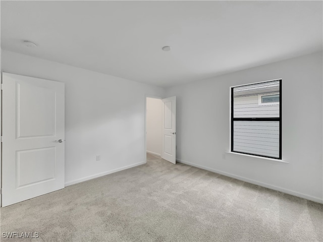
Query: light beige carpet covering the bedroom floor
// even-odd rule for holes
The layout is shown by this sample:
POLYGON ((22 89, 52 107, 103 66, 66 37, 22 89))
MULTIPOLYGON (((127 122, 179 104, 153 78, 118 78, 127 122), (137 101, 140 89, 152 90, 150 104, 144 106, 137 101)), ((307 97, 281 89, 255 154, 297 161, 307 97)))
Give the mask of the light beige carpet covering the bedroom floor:
POLYGON ((322 241, 323 205, 152 155, 1 209, 2 241, 322 241))

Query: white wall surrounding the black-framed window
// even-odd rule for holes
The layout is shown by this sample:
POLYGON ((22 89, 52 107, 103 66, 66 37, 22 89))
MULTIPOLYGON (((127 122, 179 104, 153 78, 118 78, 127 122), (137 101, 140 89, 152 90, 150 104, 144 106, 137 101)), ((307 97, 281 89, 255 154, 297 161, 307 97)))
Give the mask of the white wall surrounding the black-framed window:
POLYGON ((323 202, 322 52, 169 88, 179 161, 323 202), (282 78, 282 152, 289 163, 228 154, 230 86, 282 78))

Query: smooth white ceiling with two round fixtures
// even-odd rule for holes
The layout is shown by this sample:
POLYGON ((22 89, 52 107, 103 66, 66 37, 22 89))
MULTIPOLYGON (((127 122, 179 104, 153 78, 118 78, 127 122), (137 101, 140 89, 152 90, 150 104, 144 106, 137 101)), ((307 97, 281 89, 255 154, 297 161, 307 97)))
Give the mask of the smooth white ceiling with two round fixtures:
POLYGON ((321 1, 1 1, 1 47, 170 87, 320 51, 322 19, 321 1))

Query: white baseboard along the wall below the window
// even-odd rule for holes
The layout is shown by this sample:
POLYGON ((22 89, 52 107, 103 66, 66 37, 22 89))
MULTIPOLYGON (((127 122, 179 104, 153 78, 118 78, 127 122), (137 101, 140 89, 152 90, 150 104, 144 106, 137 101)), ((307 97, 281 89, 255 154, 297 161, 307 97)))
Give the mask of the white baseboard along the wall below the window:
POLYGON ((261 187, 264 187, 264 188, 273 189, 273 190, 276 190, 276 191, 279 191, 279 192, 287 193, 287 194, 290 194, 290 195, 293 195, 293 196, 296 196, 296 197, 304 198, 304 199, 307 199, 307 200, 310 200, 310 201, 313 201, 313 202, 316 202, 316 203, 323 204, 323 199, 320 199, 320 198, 312 197, 312 196, 309 196, 309 195, 306 195, 306 194, 298 193, 298 192, 291 191, 291 190, 288 190, 288 189, 284 189, 284 188, 281 188, 281 187, 276 187, 276 186, 273 186, 273 185, 270 185, 270 184, 261 183, 260 181, 257 181, 257 180, 249 179, 249 178, 246 178, 246 177, 243 177, 243 176, 231 174, 231 173, 224 172, 224 171, 221 171, 221 170, 212 169, 212 168, 209 168, 209 167, 206 167, 206 166, 202 166, 202 165, 198 165, 198 164, 195 164, 195 163, 187 162, 187 161, 184 161, 184 160, 181 160, 181 159, 176 159, 176 161, 178 161, 180 163, 183 163, 183 164, 191 165, 191 166, 194 166, 194 167, 197 167, 197 168, 201 168, 201 169, 204 169, 204 170, 208 170, 208 171, 211 171, 211 172, 219 173, 219 174, 222 174, 222 175, 225 175, 225 176, 229 176, 229 177, 232 177, 232 178, 235 178, 235 179, 238 179, 238 180, 243 180, 243 181, 246 181, 247 183, 255 184, 255 185, 258 185, 258 186, 261 186, 261 187))

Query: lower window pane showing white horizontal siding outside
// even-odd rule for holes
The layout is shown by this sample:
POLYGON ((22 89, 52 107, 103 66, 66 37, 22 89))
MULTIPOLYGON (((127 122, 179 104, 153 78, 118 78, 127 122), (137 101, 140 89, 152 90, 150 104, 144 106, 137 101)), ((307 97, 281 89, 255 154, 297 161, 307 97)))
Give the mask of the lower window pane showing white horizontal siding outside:
POLYGON ((279 122, 234 121, 234 151, 279 157, 279 122))

